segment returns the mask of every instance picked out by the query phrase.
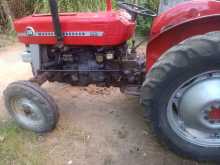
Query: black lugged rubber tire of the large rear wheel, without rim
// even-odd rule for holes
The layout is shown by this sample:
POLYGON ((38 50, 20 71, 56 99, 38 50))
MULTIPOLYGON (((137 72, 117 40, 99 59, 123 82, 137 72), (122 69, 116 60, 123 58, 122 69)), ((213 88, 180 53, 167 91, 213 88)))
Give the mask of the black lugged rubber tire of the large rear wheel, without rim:
POLYGON ((198 161, 220 161, 219 147, 201 147, 180 138, 167 119, 167 104, 185 81, 209 70, 220 70, 220 32, 189 38, 164 53, 146 75, 141 101, 153 130, 175 153, 198 161))

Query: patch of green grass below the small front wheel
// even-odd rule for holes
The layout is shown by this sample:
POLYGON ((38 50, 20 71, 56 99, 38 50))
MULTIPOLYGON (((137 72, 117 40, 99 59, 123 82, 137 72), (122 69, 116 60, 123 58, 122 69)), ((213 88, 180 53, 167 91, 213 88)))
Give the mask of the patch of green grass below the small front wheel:
POLYGON ((0 165, 43 165, 37 135, 13 122, 0 123, 0 165))

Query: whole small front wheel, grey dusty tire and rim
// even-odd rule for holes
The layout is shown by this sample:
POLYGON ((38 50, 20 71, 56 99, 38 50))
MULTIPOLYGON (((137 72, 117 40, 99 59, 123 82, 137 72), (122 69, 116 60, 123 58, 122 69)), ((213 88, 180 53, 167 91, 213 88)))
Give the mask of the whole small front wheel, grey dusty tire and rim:
POLYGON ((21 127, 37 133, 55 128, 59 117, 57 105, 37 84, 14 82, 4 91, 4 98, 6 109, 21 127))

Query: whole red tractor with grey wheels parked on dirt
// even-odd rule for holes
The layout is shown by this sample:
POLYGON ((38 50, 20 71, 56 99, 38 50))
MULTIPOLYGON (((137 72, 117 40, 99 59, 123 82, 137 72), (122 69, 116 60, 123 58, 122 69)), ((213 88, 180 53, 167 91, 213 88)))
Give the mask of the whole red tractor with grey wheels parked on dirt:
POLYGON ((16 20, 34 77, 4 91, 8 112, 26 129, 48 132, 58 108, 40 88, 45 81, 119 87, 140 95, 156 135, 172 151, 220 161, 220 2, 167 2, 156 16, 124 1, 114 11, 111 0, 104 12, 58 14, 49 0, 51 14, 16 20), (155 17, 146 58, 127 44, 138 15, 155 17))

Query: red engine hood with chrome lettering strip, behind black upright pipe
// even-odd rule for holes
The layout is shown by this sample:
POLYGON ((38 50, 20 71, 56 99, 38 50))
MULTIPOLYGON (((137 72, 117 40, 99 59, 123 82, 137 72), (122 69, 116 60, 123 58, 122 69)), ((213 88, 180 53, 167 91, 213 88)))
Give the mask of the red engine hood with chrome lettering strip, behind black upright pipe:
MULTIPOLYGON (((135 22, 123 11, 60 13, 65 45, 114 46, 130 39, 135 22)), ((20 42, 56 44, 50 14, 35 14, 14 21, 20 42)))

